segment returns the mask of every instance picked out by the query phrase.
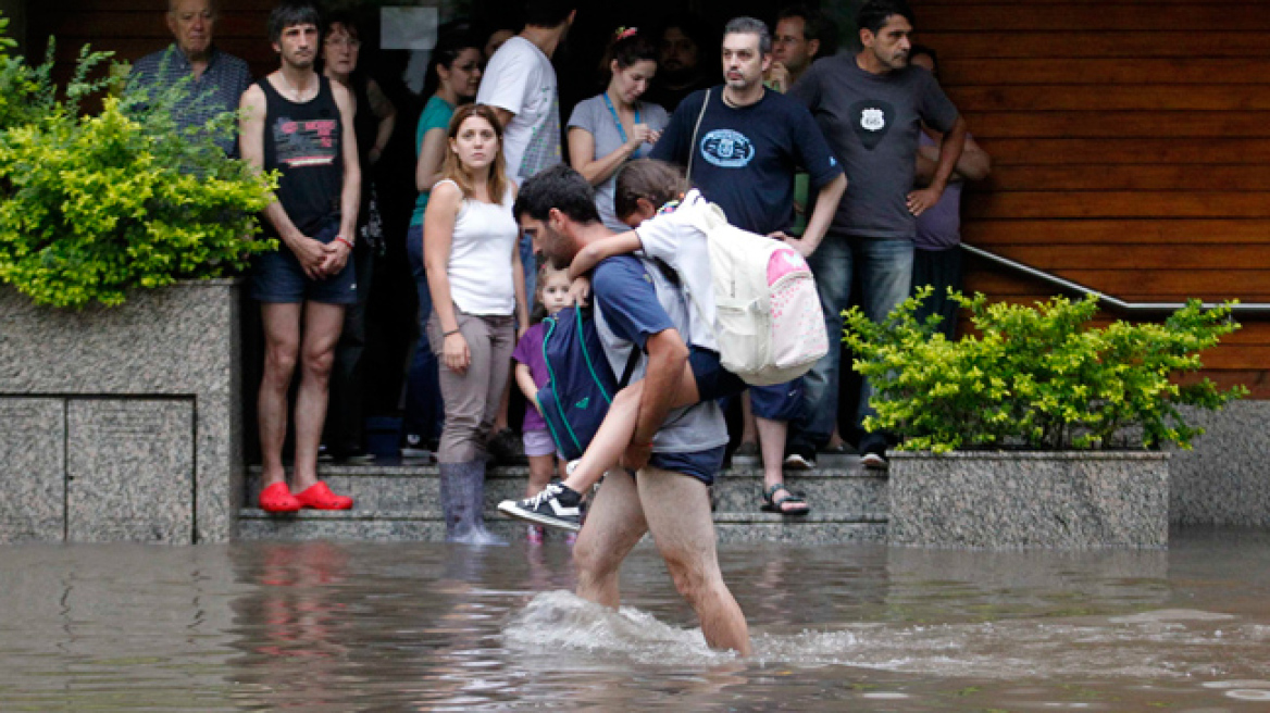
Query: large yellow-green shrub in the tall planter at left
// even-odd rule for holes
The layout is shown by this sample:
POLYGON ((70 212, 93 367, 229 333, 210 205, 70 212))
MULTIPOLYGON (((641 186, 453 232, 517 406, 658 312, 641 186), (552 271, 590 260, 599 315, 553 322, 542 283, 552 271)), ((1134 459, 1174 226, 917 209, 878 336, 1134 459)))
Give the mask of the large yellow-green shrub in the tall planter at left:
POLYGON ((0 280, 37 303, 119 304, 128 289, 221 277, 277 247, 251 240, 274 176, 213 142, 232 131, 232 112, 180 131, 171 108, 184 85, 79 112, 112 81, 85 79, 108 57, 85 48, 65 99, 51 61, 0 57, 0 280))

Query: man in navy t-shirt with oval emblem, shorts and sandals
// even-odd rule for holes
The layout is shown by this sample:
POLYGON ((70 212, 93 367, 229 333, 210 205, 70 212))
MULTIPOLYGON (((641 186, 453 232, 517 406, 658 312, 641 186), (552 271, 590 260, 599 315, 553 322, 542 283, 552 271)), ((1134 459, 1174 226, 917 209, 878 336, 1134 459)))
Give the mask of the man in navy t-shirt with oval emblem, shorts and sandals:
MULTIPOLYGON (((701 194, 718 203, 732 225, 790 242, 804 258, 824 237, 847 179, 810 112, 763 86, 772 63, 767 25, 735 18, 724 28, 726 82, 691 94, 671 117, 652 157, 688 167, 701 194), (794 174, 803 166, 818 192, 815 211, 801 239, 794 227, 794 174)), ((785 433, 801 406, 801 381, 749 389, 763 453, 765 499, 782 514, 804 515, 806 506, 784 490, 785 433)), ((747 433, 743 443, 751 442, 747 433)))

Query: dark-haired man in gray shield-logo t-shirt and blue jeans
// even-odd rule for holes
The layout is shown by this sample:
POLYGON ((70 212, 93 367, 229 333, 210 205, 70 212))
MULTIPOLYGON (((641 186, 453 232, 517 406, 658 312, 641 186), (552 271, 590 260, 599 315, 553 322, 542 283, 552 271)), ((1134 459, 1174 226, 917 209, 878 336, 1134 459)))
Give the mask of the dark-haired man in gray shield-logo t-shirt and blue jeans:
MULTIPOLYGON (((860 278, 862 308, 880 321, 908 297, 916 216, 935 206, 965 143, 965 122, 931 74, 908 65, 913 14, 903 0, 869 0, 856 16, 857 55, 813 65, 790 89, 812 110, 847 173, 847 193, 828 235, 808 263, 815 273, 829 334, 842 330, 852 275, 860 278), (913 190, 922 122, 944 132, 940 162, 927 188, 913 190)), ((838 396, 838 350, 831 349, 805 377, 804 416, 790 450, 805 459, 833 431, 838 396)), ((865 382, 855 425, 871 412, 865 382)), ((880 433, 860 439, 869 467, 886 466, 880 433)))

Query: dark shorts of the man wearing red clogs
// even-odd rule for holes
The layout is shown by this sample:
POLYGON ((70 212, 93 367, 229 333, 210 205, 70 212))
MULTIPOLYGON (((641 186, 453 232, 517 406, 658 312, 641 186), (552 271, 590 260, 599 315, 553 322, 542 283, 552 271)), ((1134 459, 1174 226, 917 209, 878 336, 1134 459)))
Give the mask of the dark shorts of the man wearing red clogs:
MULTIPOLYGON (((314 240, 330 242, 339 235, 339 218, 326 219, 314 232, 314 240)), ((339 273, 321 280, 309 279, 300 260, 286 245, 257 255, 251 264, 251 299, 257 302, 295 304, 323 302, 326 304, 357 303, 357 270, 353 256, 339 273)))

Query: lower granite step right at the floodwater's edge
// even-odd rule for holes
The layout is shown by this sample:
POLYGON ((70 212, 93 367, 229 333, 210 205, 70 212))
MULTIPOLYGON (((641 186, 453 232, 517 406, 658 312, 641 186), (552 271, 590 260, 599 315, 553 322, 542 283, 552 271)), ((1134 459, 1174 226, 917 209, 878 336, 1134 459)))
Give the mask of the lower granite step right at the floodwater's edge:
MULTIPOLYGON (((513 544, 525 540, 527 529, 526 523, 497 514, 486 516, 486 527, 513 544)), ((886 516, 881 513, 817 513, 805 518, 716 513, 715 532, 719 542, 725 544, 881 542, 886 537, 886 516)), ((441 542, 444 538, 446 524, 441 513, 428 510, 305 510, 293 515, 273 515, 244 507, 239 514, 239 539, 441 542)), ((549 530, 547 539, 563 540, 564 533, 549 530)))

